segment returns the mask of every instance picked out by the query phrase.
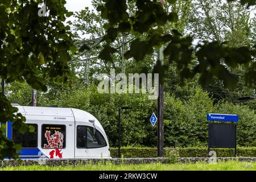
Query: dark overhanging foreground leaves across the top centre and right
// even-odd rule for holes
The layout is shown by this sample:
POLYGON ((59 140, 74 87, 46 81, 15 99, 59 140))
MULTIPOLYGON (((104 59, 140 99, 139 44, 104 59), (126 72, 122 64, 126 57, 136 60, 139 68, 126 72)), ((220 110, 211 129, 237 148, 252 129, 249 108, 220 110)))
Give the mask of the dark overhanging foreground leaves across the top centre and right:
MULTIPOLYGON (((141 61, 144 56, 150 55, 160 46, 166 44, 164 55, 169 63, 177 63, 182 80, 192 78, 200 73, 200 84, 207 85, 214 77, 223 80, 224 85, 229 87, 236 86, 238 79, 230 73, 229 68, 236 68, 237 65, 245 65, 247 72, 245 74, 246 84, 254 83, 253 74, 255 73, 255 64, 253 59, 255 51, 244 47, 227 47, 224 43, 214 41, 197 44, 192 46, 193 38, 183 37, 177 30, 171 34, 164 34, 163 27, 167 22, 175 23, 178 19, 175 10, 168 12, 166 6, 162 6, 159 1, 132 1, 136 5, 135 13, 127 11, 127 1, 104 1, 103 5, 98 6, 97 10, 101 11, 101 16, 108 19, 104 24, 106 35, 104 36, 105 46, 101 52, 101 58, 108 60, 115 49, 110 46, 119 34, 129 32, 136 39, 130 44, 130 49, 126 53, 126 59, 134 57, 135 60, 141 61), (112 50, 112 51, 109 51, 112 50), (197 66, 189 68, 195 55, 197 66), (224 64, 225 63, 225 64, 224 64)), ((129 1, 130 3, 131 1, 129 1)), ((167 1, 167 7, 171 7, 176 1, 167 1)), ((255 4, 247 2, 248 6, 255 4)), ((164 65, 156 64, 155 71, 162 74, 164 65)))

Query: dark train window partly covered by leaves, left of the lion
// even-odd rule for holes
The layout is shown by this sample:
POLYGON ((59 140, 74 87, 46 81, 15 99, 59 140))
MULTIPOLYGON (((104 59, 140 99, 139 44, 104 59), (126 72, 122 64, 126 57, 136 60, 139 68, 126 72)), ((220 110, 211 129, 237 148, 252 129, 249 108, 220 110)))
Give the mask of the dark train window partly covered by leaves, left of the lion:
POLYGON ((34 132, 27 132, 25 134, 13 129, 13 140, 14 143, 20 143, 22 148, 37 148, 38 147, 38 125, 29 124, 28 126, 34 126, 34 132))

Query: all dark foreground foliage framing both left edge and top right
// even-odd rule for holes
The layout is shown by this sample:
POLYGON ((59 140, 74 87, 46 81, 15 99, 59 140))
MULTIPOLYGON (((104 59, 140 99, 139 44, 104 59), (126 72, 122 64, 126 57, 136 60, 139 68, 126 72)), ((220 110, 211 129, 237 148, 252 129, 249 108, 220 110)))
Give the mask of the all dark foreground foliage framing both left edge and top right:
MULTIPOLYGON (((189 78, 201 73, 201 84, 207 84, 213 76, 224 80, 228 86, 236 84, 236 77, 230 75, 225 64, 236 67, 245 64, 248 68, 246 82, 249 85, 255 82, 256 64, 249 64, 255 56, 254 49, 249 47, 229 48, 220 42, 204 42, 196 47, 192 46, 192 38, 183 38, 176 30, 172 34, 164 34, 163 26, 166 22, 176 22, 175 12, 167 14, 159 1, 137 0, 135 14, 127 13, 127 1, 106 0, 98 7, 109 23, 105 24, 106 45, 100 54, 102 59, 111 60, 110 53, 115 49, 109 46, 119 33, 130 32, 136 36, 131 43, 126 58, 134 57, 142 60, 145 55, 152 53, 162 44, 167 47, 164 51, 170 63, 175 61, 183 78, 189 78), (157 28, 155 28, 157 27, 157 28), (143 39, 142 39, 143 37, 143 39), (199 64, 195 69, 189 68, 193 54, 199 64), (225 64, 223 64, 225 63, 225 64)), ((175 3, 169 0, 164 8, 175 3)), ((46 1, 49 15, 37 16, 39 1, 3 0, 0 2, 0 76, 7 82, 26 80, 33 88, 46 90, 45 78, 55 82, 65 82, 70 74, 67 65, 70 60, 68 51, 74 51, 69 27, 64 26, 65 16, 71 15, 65 9, 65 1, 46 1)), ((242 0, 242 4, 255 5, 255 1, 242 0)), ((159 65, 159 64, 158 64, 159 65)), ((163 67, 158 67, 157 72, 163 67)), ((24 117, 14 114, 17 109, 10 105, 6 97, 0 96, 1 124, 13 121, 14 128, 24 133, 28 130, 23 125, 24 117)), ((4 136, 5 125, 0 130, 0 158, 18 155, 13 141, 4 136)))

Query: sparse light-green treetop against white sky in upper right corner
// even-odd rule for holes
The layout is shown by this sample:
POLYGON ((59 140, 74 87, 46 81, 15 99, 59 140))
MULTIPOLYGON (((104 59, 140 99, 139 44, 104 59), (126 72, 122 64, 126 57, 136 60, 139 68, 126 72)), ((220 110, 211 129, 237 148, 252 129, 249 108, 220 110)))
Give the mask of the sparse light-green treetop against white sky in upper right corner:
POLYGON ((228 42, 228 46, 241 47, 250 44, 253 19, 239 2, 221 0, 194 0, 189 11, 187 30, 199 40, 228 42))

